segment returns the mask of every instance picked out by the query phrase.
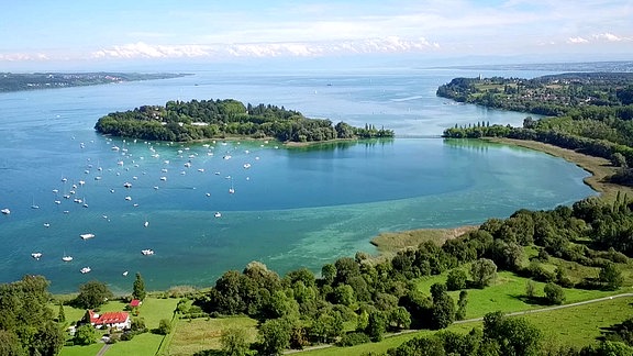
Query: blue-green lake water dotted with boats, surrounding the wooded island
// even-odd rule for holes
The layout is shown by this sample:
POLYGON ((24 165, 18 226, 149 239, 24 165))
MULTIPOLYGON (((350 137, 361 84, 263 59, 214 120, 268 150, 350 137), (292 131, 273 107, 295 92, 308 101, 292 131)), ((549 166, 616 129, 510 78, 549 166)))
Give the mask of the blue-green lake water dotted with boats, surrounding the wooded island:
POLYGON ((525 118, 435 97, 453 77, 477 75, 207 71, 0 94, 0 208, 11 210, 0 216, 0 282, 42 274, 56 292, 95 278, 127 292, 133 278, 125 270, 142 272, 148 289, 211 286, 252 260, 280 274, 318 271, 340 256, 375 253, 369 240, 381 232, 477 224, 595 194, 582 183, 588 174, 563 159, 436 137, 456 123, 520 125, 525 118), (135 142, 93 131, 108 112, 224 98, 384 125, 399 137, 287 148, 264 141, 135 142), (84 241, 84 233, 96 237, 84 241), (145 248, 155 255, 143 256, 145 248), (65 254, 74 260, 62 262, 65 254), (85 266, 92 271, 80 274, 85 266))

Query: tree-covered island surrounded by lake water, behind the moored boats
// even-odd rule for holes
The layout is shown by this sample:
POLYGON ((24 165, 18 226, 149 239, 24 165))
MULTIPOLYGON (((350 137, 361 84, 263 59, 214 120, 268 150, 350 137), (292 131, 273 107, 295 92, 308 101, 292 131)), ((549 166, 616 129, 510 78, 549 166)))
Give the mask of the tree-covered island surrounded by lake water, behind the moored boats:
POLYGON ((393 137, 393 131, 374 125, 364 129, 344 122, 333 125, 327 119, 308 119, 284 107, 244 105, 233 99, 143 105, 109 113, 99 119, 95 129, 113 136, 175 142, 227 136, 274 137, 281 142, 393 137))

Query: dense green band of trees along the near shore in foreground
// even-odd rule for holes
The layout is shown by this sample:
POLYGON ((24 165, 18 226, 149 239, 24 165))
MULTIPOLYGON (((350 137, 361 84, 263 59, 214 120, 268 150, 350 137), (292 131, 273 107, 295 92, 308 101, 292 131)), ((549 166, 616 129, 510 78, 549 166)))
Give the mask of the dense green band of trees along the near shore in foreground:
MULTIPOLYGON (((520 210, 506 220, 490 219, 442 246, 426 242, 382 262, 363 253, 338 258, 321 268, 321 277, 302 268, 281 278, 252 263, 243 271, 226 271, 195 304, 212 316, 257 319, 260 337, 253 347, 263 354, 321 343, 377 342, 386 332, 438 330, 464 319, 466 289, 486 288, 499 269, 545 282, 542 300, 528 297, 546 304, 564 302, 563 287, 615 290, 623 282, 619 265, 633 255, 630 226, 633 213, 625 197, 613 204, 590 198, 551 211, 520 210), (535 246, 537 256, 526 260, 525 246, 535 246), (567 268, 573 267, 566 264, 551 271, 546 265, 555 263, 554 257, 597 267, 599 277, 570 277, 567 268), (445 271, 446 283, 433 285, 430 293, 417 288, 418 278, 445 271), (457 301, 449 290, 460 291, 457 301)), ((477 337, 480 342, 488 336, 485 332, 477 337)), ((508 355, 503 348, 493 349, 498 352, 485 355, 508 355)))

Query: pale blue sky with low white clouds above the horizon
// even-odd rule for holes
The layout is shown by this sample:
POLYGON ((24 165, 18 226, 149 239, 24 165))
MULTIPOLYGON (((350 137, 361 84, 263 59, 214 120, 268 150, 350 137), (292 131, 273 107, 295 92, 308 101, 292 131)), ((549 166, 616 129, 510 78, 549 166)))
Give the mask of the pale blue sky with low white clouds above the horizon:
POLYGON ((345 56, 633 59, 633 0, 20 0, 2 68, 345 56))

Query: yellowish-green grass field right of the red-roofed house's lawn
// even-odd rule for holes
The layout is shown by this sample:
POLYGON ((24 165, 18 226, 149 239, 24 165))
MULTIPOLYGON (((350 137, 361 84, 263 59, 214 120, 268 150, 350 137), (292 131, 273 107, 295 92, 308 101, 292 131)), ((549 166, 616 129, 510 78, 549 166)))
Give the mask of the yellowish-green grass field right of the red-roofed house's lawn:
POLYGON ((222 331, 229 327, 246 330, 248 341, 255 342, 256 325, 257 321, 245 316, 179 320, 176 323, 168 355, 192 355, 204 349, 220 349, 222 331))

